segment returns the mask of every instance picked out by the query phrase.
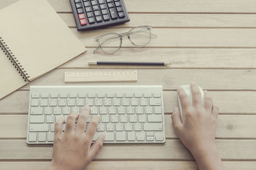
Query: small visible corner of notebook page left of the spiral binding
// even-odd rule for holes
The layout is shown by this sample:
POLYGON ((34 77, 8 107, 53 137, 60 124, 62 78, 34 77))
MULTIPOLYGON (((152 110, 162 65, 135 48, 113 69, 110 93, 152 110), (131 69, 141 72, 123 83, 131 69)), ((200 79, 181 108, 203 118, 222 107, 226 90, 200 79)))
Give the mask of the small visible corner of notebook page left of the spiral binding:
POLYGON ((10 60, 0 50, 0 99, 28 83, 17 72, 10 60))

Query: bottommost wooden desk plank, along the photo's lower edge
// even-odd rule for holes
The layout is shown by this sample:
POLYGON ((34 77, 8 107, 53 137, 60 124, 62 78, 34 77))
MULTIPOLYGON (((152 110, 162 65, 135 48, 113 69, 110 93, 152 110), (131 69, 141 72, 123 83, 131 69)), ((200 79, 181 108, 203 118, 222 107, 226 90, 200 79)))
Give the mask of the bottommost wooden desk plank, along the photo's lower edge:
MULTIPOLYGON (((49 166, 50 162, 0 162, 0 169, 26 169, 26 170, 38 170, 45 169, 49 166)), ((227 162, 223 161, 223 164, 227 170, 252 170, 256 166, 256 162, 243 161, 243 162, 227 162)), ((137 170, 148 170, 148 169, 159 169, 159 170, 196 170, 196 163, 193 161, 93 161, 86 169, 97 170, 97 169, 137 169, 137 170)))

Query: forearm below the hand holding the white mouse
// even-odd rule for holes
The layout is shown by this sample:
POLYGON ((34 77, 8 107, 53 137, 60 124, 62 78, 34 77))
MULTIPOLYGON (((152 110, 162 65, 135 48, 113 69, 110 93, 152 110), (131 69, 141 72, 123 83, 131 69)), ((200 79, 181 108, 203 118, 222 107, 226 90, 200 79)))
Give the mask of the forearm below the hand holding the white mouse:
POLYGON ((221 162, 220 155, 216 146, 207 148, 207 150, 199 148, 192 152, 196 160, 198 168, 201 170, 223 170, 225 167, 221 162))

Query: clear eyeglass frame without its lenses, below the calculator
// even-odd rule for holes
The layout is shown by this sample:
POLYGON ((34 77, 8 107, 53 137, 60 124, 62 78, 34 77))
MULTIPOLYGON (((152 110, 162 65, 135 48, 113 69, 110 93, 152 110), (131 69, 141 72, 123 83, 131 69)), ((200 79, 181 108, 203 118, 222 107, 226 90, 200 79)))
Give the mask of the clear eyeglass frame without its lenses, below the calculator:
POLYGON ((116 53, 118 50, 120 50, 120 48, 122 48, 122 42, 123 42, 123 37, 124 37, 124 36, 127 36, 127 38, 129 39, 129 41, 130 41, 130 42, 132 43, 132 45, 134 45, 134 46, 138 46, 138 47, 146 46, 146 45, 148 45, 148 44, 150 43, 150 41, 151 41, 152 38, 157 38, 157 35, 156 35, 156 34, 153 34, 151 31, 152 31, 152 26, 150 26, 150 25, 141 25, 141 26, 138 26, 138 27, 134 27, 134 28, 130 29, 128 32, 124 32, 124 33, 122 33, 122 34, 118 34, 118 33, 115 33, 115 32, 108 32, 108 33, 106 33, 106 34, 102 34, 102 35, 100 35, 100 36, 94 38, 94 41, 97 42, 97 43, 99 43, 99 46, 93 51, 93 53, 96 53, 97 50, 99 50, 99 49, 101 49, 102 52, 108 53, 108 54, 116 53), (138 29, 138 28, 147 28, 147 29, 150 31, 150 36, 149 36, 148 42, 147 42, 145 45, 136 45, 136 44, 134 44, 134 43, 132 42, 132 40, 131 40, 131 38, 130 38, 130 35, 131 35, 132 31, 134 31, 134 29, 138 29), (115 52, 106 52, 106 51, 104 51, 104 50, 102 49, 102 46, 101 46, 102 44, 100 43, 100 39, 101 39, 102 37, 104 37, 104 36, 108 36, 108 35, 111 35, 111 34, 114 34, 114 35, 116 35, 116 37, 118 36, 118 37, 120 38, 120 45, 118 46, 118 49, 116 49, 115 52))

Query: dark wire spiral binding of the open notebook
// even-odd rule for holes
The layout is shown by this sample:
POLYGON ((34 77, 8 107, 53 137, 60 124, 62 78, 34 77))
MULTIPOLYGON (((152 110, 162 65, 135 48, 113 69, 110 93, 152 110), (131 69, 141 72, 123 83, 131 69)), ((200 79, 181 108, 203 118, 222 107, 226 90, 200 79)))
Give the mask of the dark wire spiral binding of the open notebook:
POLYGON ((13 55, 12 50, 9 49, 8 45, 4 42, 4 39, 0 37, 0 48, 5 53, 6 57, 12 62, 12 65, 15 67, 15 69, 18 71, 20 76, 24 79, 24 81, 29 81, 29 75, 26 73, 22 65, 20 64, 19 60, 13 55))

